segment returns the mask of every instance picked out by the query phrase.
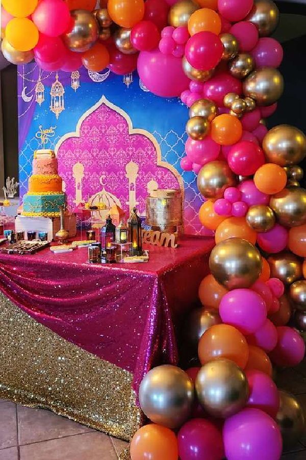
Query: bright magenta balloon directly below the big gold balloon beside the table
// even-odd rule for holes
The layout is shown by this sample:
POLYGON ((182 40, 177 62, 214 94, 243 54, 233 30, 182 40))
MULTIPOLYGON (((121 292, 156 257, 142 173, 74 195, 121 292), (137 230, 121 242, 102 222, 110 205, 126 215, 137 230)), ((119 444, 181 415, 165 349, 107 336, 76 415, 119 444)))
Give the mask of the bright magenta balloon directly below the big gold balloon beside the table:
POLYGON ((251 289, 233 289, 221 299, 219 313, 223 323, 237 328, 243 334, 258 331, 267 319, 263 298, 251 289))

